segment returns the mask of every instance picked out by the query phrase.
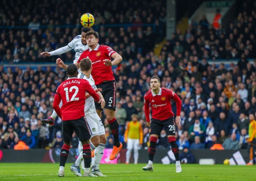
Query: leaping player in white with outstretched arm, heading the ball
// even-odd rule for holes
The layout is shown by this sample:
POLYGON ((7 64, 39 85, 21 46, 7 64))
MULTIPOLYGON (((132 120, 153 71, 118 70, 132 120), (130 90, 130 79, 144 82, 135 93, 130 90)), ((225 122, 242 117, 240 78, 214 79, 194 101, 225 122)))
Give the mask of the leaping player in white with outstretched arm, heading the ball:
MULTIPOLYGON (((92 30, 92 28, 83 27, 81 30, 82 31, 81 35, 77 35, 72 41, 68 43, 67 46, 58 48, 57 50, 54 50, 52 52, 42 52, 41 55, 46 55, 46 56, 59 55, 74 49, 76 52, 76 59, 74 60, 74 63, 77 63, 77 60, 79 59, 80 55, 89 48, 88 45, 86 44, 85 35, 90 30, 92 30)), ((78 72, 79 73, 81 72, 80 68, 78 69, 78 72)), ((62 101, 60 102, 60 107, 61 106, 62 106, 62 101)), ((50 125, 53 125, 56 117, 57 117, 57 113, 55 112, 55 110, 53 110, 52 115, 50 117, 46 119, 42 119, 42 123, 44 124, 49 123, 50 125)))

